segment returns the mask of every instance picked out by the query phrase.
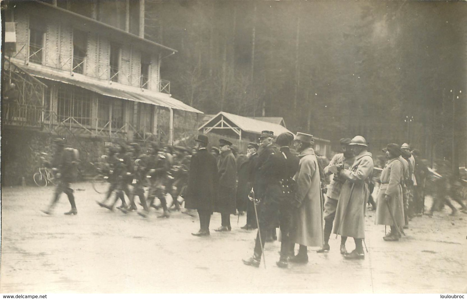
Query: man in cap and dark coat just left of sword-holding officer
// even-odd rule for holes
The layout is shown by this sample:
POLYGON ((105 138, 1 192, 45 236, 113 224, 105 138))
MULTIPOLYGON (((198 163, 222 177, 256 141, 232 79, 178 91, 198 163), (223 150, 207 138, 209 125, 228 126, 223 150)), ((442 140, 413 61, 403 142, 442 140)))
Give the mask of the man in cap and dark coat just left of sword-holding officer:
MULTIPOLYGON (((244 161, 239 167, 238 171, 238 188, 237 196, 241 196, 241 201, 243 205, 246 205, 247 211, 247 223, 241 227, 241 229, 256 229, 256 216, 255 216, 255 207, 254 203, 248 200, 248 193, 251 188, 253 188, 253 183, 255 181, 255 163, 258 158, 258 147, 259 145, 254 142, 248 143, 247 146, 247 158, 248 160, 244 161)), ((237 204, 238 204, 237 200, 237 204)))

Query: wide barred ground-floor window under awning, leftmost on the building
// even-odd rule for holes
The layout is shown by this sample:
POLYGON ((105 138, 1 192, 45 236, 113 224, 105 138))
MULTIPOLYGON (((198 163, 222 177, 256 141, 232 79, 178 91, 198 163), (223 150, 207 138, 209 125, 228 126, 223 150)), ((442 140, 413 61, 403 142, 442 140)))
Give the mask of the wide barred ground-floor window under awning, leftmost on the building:
POLYGON ((91 91, 70 85, 58 88, 58 121, 91 125, 91 91))

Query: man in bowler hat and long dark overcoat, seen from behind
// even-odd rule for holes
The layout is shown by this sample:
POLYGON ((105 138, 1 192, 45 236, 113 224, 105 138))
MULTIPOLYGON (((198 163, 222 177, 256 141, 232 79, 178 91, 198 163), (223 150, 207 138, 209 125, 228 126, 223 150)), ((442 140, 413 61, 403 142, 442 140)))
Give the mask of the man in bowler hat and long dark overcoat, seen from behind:
POLYGON ((197 153, 191 156, 188 185, 185 191, 185 208, 197 209, 199 231, 193 236, 209 236, 209 222, 216 197, 218 171, 216 158, 206 149, 208 138, 198 135, 195 139, 197 153))

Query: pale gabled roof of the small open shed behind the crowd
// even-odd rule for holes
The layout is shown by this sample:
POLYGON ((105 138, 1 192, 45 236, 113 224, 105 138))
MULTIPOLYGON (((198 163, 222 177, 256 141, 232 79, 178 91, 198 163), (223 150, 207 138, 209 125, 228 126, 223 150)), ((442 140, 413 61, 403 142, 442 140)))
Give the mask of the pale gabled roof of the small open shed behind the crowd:
MULTIPOLYGON (((250 132, 250 133, 257 133, 260 134, 261 131, 268 130, 274 132, 274 135, 279 135, 284 132, 290 132, 287 128, 284 128, 282 125, 277 125, 273 123, 269 123, 266 121, 248 118, 241 115, 236 115, 232 113, 227 113, 220 111, 214 117, 212 117, 209 121, 207 121, 204 125, 199 127, 198 130, 202 129, 203 127, 207 126, 214 118, 217 118, 219 115, 223 115, 225 118, 233 122, 236 126, 238 126, 242 131, 250 132)), ((214 124, 212 124, 214 125, 214 124)), ((291 132, 290 132, 291 133, 291 132)))

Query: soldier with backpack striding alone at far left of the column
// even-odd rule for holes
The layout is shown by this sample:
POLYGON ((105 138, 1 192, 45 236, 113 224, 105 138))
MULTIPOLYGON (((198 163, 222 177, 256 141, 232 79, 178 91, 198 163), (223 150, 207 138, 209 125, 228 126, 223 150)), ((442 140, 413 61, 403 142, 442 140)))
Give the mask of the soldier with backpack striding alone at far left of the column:
POLYGON ((47 210, 42 210, 43 213, 50 215, 52 214, 53 208, 58 202, 60 195, 65 193, 70 201, 71 210, 64 213, 65 215, 76 215, 78 210, 76 209, 75 197, 73 195, 73 189, 70 187, 70 183, 73 180, 73 171, 75 166, 71 157, 65 153, 65 140, 63 138, 56 138, 54 140, 55 153, 52 162, 44 162, 45 167, 52 168, 55 177, 57 178, 58 185, 55 188, 54 197, 50 206, 47 210))

